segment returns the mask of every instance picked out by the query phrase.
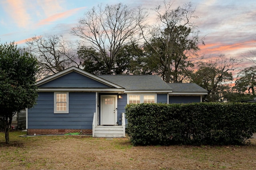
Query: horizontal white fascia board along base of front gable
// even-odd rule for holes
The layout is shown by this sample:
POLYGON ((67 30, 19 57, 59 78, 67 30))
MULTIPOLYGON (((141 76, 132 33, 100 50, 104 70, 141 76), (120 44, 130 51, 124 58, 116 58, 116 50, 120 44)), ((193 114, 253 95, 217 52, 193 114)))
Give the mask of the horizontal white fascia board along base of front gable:
POLYGON ((39 88, 38 92, 116 92, 123 93, 124 89, 101 88, 39 88))

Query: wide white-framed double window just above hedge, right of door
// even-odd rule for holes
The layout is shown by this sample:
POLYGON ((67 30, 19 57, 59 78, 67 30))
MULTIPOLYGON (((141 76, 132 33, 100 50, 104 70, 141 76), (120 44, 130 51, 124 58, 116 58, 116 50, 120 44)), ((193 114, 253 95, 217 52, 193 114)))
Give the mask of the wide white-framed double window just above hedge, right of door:
POLYGON ((156 94, 129 94, 128 104, 156 103, 156 94))

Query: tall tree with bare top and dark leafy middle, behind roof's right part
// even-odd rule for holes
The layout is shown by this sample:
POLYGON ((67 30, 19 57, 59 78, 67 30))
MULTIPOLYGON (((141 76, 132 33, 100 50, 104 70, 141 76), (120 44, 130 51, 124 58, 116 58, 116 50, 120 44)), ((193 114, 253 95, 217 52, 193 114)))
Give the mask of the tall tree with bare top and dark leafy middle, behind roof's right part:
POLYGON ((146 47, 150 49, 148 57, 154 53, 151 62, 158 66, 163 80, 182 82, 193 66, 189 56, 196 55, 199 50, 198 31, 194 31, 195 25, 191 22, 198 17, 194 15, 191 3, 172 9, 172 2, 164 1, 163 6, 157 6, 154 10, 157 24, 148 30, 141 26, 146 47))

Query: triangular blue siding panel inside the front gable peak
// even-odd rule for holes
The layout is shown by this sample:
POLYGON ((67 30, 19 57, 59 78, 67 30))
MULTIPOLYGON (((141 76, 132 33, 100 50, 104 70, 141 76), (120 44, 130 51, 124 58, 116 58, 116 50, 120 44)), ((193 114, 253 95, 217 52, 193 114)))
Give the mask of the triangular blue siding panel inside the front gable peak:
POLYGON ((39 88, 107 88, 106 84, 102 84, 96 80, 88 78, 77 72, 70 72, 62 77, 56 78, 50 82, 42 84, 39 88))

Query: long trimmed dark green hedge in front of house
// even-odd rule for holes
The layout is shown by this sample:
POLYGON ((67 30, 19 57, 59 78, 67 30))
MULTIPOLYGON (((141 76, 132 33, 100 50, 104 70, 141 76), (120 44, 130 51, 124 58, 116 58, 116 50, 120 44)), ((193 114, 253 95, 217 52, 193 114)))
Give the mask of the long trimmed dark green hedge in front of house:
POLYGON ((133 145, 242 145, 256 132, 256 103, 128 104, 133 145))

